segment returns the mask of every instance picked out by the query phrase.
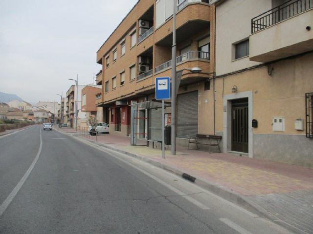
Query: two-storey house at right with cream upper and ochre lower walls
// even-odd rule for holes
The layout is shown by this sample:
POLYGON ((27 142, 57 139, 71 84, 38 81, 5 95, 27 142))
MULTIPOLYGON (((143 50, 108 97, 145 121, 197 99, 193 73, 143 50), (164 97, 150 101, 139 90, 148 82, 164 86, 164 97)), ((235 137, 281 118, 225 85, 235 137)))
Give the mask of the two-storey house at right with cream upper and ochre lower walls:
POLYGON ((223 151, 313 166, 313 0, 214 2, 223 151))

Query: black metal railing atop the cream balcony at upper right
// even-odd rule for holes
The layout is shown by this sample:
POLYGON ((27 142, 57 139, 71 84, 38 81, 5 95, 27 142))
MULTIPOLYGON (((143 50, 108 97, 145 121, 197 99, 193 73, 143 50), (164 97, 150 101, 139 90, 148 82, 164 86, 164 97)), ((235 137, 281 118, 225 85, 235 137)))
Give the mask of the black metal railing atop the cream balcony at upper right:
POLYGON ((313 8, 313 0, 289 0, 251 20, 251 33, 258 32, 282 20, 287 20, 313 8))

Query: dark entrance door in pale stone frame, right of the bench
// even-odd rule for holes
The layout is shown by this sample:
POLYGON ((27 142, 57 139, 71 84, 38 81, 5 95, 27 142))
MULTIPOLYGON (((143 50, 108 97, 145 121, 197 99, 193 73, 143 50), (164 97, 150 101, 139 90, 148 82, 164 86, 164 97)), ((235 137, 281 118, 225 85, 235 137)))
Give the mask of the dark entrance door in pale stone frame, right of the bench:
POLYGON ((232 100, 231 150, 248 153, 248 98, 232 100))

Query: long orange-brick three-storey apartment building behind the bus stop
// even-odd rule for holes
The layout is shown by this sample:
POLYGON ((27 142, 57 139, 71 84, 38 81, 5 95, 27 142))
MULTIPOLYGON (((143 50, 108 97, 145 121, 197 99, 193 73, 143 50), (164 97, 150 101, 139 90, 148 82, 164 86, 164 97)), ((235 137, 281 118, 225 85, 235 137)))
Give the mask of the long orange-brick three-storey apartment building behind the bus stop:
MULTIPOLYGON (((155 78, 171 77, 173 1, 138 0, 97 51, 102 71, 103 121, 110 133, 130 134, 130 104, 155 99, 155 78)), ((212 133, 215 6, 208 0, 178 0, 176 5, 177 71, 200 67, 201 72, 183 70, 177 101, 177 137, 183 144, 189 136, 212 133)), ((166 110, 171 122, 170 108, 166 110)), ((161 123, 161 110, 140 110, 142 137, 161 123)))

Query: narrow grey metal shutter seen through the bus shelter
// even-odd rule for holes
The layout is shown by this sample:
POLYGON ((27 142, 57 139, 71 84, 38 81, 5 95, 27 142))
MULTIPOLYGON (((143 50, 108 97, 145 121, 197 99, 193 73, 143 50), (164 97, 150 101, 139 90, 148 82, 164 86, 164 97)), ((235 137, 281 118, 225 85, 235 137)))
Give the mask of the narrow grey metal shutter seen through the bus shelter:
POLYGON ((149 139, 161 140, 162 139, 162 109, 149 110, 149 139))

